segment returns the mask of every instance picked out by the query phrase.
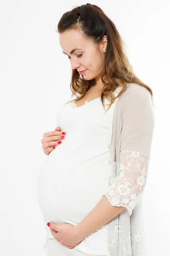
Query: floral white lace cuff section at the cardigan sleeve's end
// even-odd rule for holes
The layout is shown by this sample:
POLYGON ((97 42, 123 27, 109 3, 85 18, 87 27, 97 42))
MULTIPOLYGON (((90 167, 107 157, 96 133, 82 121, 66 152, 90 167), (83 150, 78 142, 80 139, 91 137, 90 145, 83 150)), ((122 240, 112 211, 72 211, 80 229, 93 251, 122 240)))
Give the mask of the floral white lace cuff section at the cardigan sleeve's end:
MULTIPOLYGON (((119 164, 118 164, 119 166, 119 164)), ((108 191, 104 194, 113 206, 123 206, 129 214, 141 199, 147 180, 149 157, 136 151, 120 152, 119 175, 111 174, 108 191)))

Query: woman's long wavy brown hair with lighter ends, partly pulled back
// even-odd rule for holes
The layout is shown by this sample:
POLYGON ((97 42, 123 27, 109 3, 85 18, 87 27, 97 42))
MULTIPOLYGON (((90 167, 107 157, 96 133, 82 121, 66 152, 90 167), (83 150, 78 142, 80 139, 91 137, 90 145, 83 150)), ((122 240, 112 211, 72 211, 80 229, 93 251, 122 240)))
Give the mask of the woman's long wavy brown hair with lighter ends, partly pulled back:
MULTIPOLYGON (((57 32, 62 33, 71 29, 78 30, 85 38, 93 40, 96 44, 102 41, 104 35, 107 36, 108 43, 105 53, 105 64, 101 76, 102 82, 105 85, 100 95, 104 108, 104 97, 110 101, 109 109, 115 99, 124 93, 129 83, 139 84, 145 87, 150 92, 153 103, 152 90, 134 74, 127 56, 125 55, 124 43, 116 26, 99 6, 87 3, 65 12, 59 20, 57 32), (103 80, 104 76, 107 76, 108 83, 103 80), (121 85, 122 90, 115 97, 113 92, 121 85)), ((72 70, 70 88, 72 94, 80 94, 80 96, 75 99, 75 102, 78 99, 82 99, 94 84, 95 79, 85 80, 80 77, 76 69, 72 70)))

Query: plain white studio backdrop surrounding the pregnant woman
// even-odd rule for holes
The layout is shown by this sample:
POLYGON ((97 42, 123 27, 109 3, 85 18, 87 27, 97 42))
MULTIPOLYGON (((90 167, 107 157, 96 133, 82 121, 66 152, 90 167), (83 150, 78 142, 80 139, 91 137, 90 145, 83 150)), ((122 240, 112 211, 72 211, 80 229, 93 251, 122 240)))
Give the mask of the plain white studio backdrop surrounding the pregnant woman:
MULTIPOLYGON (((71 66, 55 31, 84 1, 0 1, 0 255, 43 256, 37 177, 41 139, 71 96, 71 66)), ((87 2, 88 3, 88 2, 87 2)), ((153 90, 155 130, 143 194, 147 256, 169 255, 170 23, 168 0, 93 1, 115 23, 136 75, 153 90)), ((67 132, 67 131, 66 131, 67 132)), ((75 138, 76 139, 76 138, 75 138)))

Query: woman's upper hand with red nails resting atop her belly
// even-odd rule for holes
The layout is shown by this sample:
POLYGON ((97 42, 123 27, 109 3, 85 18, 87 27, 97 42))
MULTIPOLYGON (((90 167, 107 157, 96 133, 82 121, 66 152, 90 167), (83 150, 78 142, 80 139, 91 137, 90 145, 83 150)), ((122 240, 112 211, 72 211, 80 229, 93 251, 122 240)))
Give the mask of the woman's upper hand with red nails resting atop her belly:
POLYGON ((65 135, 66 132, 62 132, 59 127, 55 128, 55 131, 45 132, 41 140, 44 154, 49 155, 50 152, 56 148, 56 146, 61 145, 62 140, 65 140, 65 135))

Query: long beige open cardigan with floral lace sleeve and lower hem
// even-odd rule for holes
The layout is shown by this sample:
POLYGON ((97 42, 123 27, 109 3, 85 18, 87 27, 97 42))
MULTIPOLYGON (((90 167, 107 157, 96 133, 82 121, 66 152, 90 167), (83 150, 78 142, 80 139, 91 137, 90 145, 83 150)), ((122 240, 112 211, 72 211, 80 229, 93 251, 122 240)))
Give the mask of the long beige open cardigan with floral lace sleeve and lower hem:
MULTIPOLYGON (((116 90, 115 96, 121 89, 116 90)), ((113 206, 126 209, 108 222, 107 256, 147 256, 141 199, 154 129, 151 95, 145 87, 127 84, 111 108, 111 172, 104 195, 113 206)))

